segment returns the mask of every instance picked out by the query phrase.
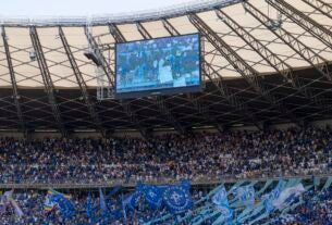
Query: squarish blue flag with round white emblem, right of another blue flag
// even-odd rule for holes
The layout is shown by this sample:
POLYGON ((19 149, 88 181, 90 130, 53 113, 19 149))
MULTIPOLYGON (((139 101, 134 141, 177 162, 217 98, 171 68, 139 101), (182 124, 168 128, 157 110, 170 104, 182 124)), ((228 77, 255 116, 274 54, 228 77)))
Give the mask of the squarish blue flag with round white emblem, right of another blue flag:
POLYGON ((184 212, 193 207, 189 188, 186 185, 169 186, 163 192, 164 203, 173 214, 184 212))

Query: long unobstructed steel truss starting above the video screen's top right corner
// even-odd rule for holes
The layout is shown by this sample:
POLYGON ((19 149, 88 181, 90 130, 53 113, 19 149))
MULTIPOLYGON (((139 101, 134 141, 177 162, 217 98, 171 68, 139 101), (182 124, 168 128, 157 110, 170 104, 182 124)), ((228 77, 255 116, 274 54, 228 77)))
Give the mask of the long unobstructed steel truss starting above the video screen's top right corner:
POLYGON ((293 115, 285 105, 282 105, 261 82, 258 72, 248 65, 224 40, 222 40, 198 15, 189 14, 192 24, 205 35, 213 47, 229 61, 229 63, 242 75, 242 77, 261 95, 272 108, 278 110, 285 118, 291 118, 300 125, 300 122, 293 115))

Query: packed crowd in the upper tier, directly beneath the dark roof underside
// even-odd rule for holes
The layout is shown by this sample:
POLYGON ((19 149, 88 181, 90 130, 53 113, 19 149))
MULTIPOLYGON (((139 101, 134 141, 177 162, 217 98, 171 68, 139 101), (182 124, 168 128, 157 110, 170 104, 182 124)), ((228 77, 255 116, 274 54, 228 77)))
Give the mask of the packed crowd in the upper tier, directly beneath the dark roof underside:
POLYGON ((0 139, 0 184, 208 180, 331 173, 332 132, 199 133, 111 139, 0 139))

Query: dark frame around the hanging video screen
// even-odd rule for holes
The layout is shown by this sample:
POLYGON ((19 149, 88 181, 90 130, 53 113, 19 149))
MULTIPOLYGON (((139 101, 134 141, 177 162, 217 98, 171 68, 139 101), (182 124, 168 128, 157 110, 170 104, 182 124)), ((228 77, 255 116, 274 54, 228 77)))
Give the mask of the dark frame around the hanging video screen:
POLYGON ((115 99, 130 99, 130 98, 142 98, 142 97, 149 97, 149 96, 162 96, 162 95, 174 95, 174 93, 187 93, 187 92, 200 92, 202 89, 201 85, 201 68, 202 68, 202 61, 201 61, 201 34, 200 33, 190 33, 190 34, 184 34, 184 35, 176 35, 176 36, 165 36, 165 37, 157 37, 157 38, 150 38, 150 39, 140 39, 140 40, 131 40, 131 41, 122 41, 122 42, 115 42, 114 48, 114 97, 115 99), (128 92, 118 92, 118 46, 131 43, 131 42, 147 42, 150 40, 158 40, 158 39, 165 39, 165 38, 176 38, 176 37, 183 37, 183 36, 190 36, 190 35, 197 35, 198 37, 198 60, 199 60, 199 84, 194 86, 186 86, 186 87, 168 87, 168 88, 156 88, 156 89, 149 89, 149 90, 133 90, 128 92))

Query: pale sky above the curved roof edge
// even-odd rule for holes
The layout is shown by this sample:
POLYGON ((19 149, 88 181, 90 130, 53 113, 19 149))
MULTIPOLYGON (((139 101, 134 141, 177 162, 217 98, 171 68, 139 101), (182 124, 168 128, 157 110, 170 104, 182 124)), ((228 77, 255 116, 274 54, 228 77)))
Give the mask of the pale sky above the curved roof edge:
POLYGON ((3 0, 0 18, 5 16, 88 16, 176 5, 193 0, 3 0))

